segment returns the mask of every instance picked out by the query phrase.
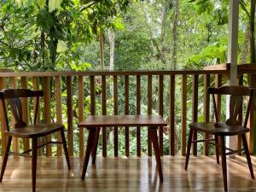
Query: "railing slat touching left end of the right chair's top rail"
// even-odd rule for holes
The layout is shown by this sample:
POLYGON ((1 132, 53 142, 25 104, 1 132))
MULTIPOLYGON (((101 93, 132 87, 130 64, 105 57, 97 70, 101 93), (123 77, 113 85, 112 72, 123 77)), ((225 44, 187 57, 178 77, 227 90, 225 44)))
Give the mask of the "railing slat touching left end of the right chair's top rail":
MULTIPOLYGON (((210 120, 210 95, 208 94, 208 87, 210 86, 210 74, 204 75, 204 121, 210 120)), ((204 133, 204 139, 207 139, 209 134, 204 133)), ((204 154, 209 155, 209 143, 204 142, 204 154)))

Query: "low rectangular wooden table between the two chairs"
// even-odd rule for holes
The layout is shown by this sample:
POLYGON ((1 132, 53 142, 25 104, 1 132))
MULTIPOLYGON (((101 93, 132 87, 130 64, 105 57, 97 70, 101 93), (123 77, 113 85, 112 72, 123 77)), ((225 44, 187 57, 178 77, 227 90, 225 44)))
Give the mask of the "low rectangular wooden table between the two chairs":
POLYGON ((96 149, 99 140, 101 127, 112 126, 147 126, 149 129, 149 137, 153 143, 154 156, 160 181, 163 182, 163 172, 160 161, 160 150, 157 137, 157 129, 159 126, 166 126, 166 121, 160 115, 90 115, 87 119, 79 123, 79 127, 89 130, 87 147, 84 156, 84 167, 82 179, 84 180, 87 170, 90 154, 92 156, 92 164, 96 162, 96 149))

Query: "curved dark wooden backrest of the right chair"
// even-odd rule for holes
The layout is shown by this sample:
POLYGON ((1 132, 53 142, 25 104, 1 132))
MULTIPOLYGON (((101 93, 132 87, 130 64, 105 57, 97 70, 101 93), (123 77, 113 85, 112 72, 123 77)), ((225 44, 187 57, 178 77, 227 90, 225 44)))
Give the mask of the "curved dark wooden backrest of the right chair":
POLYGON ((253 88, 246 86, 222 86, 219 88, 211 87, 208 88, 208 93, 212 94, 214 113, 217 122, 219 122, 218 109, 214 95, 230 95, 230 118, 226 121, 226 123, 230 125, 239 125, 237 117, 239 113, 242 113, 243 97, 248 96, 246 117, 243 124, 244 127, 247 126, 250 108, 252 105, 253 88))

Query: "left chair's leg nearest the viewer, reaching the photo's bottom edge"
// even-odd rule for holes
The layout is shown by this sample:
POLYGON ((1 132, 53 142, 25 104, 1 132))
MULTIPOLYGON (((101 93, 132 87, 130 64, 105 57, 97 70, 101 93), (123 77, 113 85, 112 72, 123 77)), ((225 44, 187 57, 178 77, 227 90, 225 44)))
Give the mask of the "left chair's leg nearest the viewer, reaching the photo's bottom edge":
POLYGON ((38 160, 38 137, 32 138, 32 192, 36 191, 38 160))

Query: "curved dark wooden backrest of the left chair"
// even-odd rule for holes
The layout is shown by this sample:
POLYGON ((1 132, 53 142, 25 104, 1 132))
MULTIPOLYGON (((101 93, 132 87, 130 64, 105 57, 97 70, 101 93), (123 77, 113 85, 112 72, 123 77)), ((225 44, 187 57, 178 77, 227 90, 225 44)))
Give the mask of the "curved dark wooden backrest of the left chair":
POLYGON ((36 97, 36 108, 34 114, 33 123, 36 124, 37 116, 38 116, 38 104, 39 104, 39 97, 43 96, 42 90, 28 90, 28 89, 5 89, 1 90, 0 92, 0 99, 3 104, 3 113, 4 118, 7 125, 7 131, 9 131, 9 120, 7 115, 6 103, 5 100, 8 101, 10 105, 11 112, 15 118, 15 128, 22 128, 26 126, 26 123, 22 119, 22 102, 21 98, 26 97, 36 97))

